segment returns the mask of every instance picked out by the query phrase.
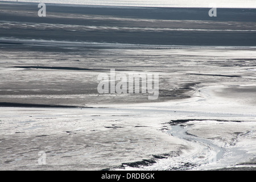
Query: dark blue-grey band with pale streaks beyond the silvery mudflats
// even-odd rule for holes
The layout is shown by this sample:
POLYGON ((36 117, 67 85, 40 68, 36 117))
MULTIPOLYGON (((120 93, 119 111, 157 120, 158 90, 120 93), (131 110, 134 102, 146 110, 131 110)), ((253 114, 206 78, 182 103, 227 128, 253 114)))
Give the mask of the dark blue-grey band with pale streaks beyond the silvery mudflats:
POLYGON ((220 9, 210 17, 208 9, 47 5, 44 18, 35 3, 1 3, 0 10, 1 39, 96 43, 94 47, 256 46, 256 9, 220 9))

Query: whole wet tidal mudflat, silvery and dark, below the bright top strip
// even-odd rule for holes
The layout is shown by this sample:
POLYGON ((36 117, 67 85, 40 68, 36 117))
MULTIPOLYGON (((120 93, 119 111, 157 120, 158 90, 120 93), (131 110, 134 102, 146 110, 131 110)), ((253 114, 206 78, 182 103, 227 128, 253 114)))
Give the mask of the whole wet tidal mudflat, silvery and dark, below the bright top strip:
POLYGON ((1 170, 255 169, 255 10, 0 5, 1 170), (99 94, 110 69, 158 100, 99 94))

